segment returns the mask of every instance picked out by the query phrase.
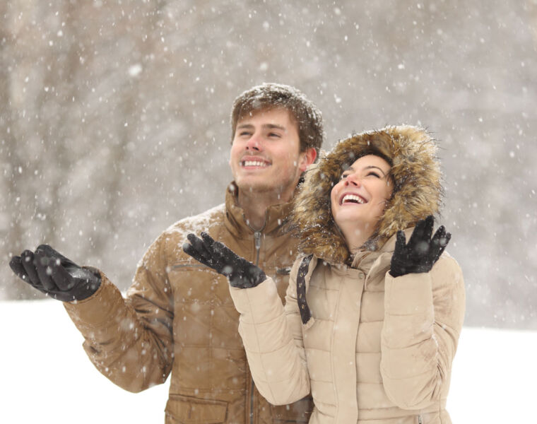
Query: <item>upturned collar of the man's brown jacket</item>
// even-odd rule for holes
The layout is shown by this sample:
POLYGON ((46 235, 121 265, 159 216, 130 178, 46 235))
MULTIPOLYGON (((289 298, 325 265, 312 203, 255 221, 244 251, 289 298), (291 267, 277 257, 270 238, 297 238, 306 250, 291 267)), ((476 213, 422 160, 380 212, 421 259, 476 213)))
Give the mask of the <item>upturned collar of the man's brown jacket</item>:
MULTIPOLYGON (((237 236, 252 234, 254 230, 247 224, 244 210, 238 204, 238 194, 239 187, 233 181, 225 192, 226 227, 237 236)), ((269 206, 265 212, 265 225, 261 232, 272 236, 288 232, 288 216, 291 208, 290 203, 269 206)))

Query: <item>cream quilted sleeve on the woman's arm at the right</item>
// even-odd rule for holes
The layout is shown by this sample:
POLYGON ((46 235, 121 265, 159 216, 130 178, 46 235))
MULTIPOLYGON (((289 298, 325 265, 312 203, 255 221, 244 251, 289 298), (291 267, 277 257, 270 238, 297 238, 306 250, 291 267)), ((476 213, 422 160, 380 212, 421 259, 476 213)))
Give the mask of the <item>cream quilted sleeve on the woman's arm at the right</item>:
POLYGON ((420 409, 447 398, 464 309, 462 272, 447 254, 428 273, 386 273, 380 367, 397 406, 420 409))

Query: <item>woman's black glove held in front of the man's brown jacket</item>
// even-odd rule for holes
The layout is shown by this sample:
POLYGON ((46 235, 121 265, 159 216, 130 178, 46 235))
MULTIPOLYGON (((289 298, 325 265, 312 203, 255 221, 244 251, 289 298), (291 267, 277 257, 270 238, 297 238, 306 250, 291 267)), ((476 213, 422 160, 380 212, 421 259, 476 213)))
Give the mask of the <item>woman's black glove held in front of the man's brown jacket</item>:
POLYGON ((223 243, 214 241, 206 232, 201 232, 201 239, 194 234, 187 235, 187 238, 191 244, 184 243, 184 252, 228 277, 233 287, 256 287, 266 280, 266 275, 259 266, 238 256, 223 243))

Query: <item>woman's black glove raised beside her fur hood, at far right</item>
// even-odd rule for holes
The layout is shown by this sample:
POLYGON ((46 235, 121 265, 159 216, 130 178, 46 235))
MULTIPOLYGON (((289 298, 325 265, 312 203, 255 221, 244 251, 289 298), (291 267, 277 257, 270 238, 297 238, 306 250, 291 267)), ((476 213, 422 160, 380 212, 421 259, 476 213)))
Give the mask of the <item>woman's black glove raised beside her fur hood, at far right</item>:
POLYGON ((418 221, 411 239, 406 244, 403 231, 397 232, 394 254, 391 257, 390 274, 394 277, 408 273, 429 272, 438 260, 452 237, 441 225, 432 236, 432 225, 435 218, 432 215, 418 221))

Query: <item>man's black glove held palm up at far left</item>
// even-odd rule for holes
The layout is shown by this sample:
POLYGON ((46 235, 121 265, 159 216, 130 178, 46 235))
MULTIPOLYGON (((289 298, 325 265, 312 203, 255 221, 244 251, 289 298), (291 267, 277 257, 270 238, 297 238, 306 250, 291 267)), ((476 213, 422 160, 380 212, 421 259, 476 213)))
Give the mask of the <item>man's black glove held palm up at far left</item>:
POLYGON ((35 252, 25 250, 20 257, 12 257, 9 266, 33 288, 62 302, 89 298, 100 286, 100 276, 74 264, 49 245, 40 245, 35 252))

